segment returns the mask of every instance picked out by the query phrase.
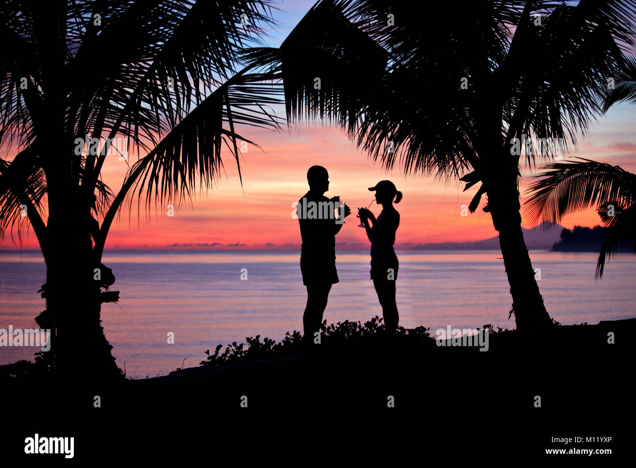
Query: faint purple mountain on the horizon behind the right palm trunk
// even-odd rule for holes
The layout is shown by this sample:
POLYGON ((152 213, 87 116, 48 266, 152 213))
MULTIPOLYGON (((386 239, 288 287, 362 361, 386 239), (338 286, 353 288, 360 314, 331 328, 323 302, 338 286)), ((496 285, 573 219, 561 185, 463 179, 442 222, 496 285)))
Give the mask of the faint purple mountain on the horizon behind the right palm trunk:
MULTIPOLYGON (((551 249, 561 239, 561 232, 565 229, 558 223, 543 222, 532 229, 523 229, 523 239, 529 249, 551 249)), ((566 229, 567 230, 567 229, 566 229)), ((413 250, 499 250, 499 236, 474 242, 442 242, 422 244, 413 250)), ((598 249, 597 249, 598 250, 598 249)))

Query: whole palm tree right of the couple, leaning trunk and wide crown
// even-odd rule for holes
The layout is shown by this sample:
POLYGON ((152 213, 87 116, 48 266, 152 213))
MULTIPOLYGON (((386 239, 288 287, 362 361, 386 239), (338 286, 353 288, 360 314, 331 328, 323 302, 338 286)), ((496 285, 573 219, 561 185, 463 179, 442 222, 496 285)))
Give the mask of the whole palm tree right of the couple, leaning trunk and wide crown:
POLYGON ((520 162, 567 151, 566 137, 576 145, 599 115, 595 96, 633 43, 636 2, 438 2, 424 16, 421 4, 319 1, 280 48, 244 59, 282 74, 288 120, 335 120, 386 169, 481 182, 468 208, 487 196, 516 325, 548 327, 521 229, 520 162))

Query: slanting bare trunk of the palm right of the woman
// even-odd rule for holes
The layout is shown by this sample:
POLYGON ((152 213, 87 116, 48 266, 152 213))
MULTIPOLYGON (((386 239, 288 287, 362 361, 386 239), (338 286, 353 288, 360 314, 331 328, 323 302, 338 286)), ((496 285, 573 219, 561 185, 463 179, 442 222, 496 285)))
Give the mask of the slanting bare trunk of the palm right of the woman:
POLYGON ((488 190, 488 208, 492 222, 499 232, 499 245, 504 257, 510 294, 513 297, 513 312, 519 330, 543 329, 553 325, 553 320, 543 304, 543 296, 534 279, 528 248, 523 239, 519 192, 516 174, 492 183, 488 190))

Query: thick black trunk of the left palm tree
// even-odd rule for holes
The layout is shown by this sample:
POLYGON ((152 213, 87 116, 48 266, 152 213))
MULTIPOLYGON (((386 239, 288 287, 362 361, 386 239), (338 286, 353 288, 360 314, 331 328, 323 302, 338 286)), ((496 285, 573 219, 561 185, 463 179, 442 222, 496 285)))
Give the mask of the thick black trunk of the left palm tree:
MULTIPOLYGON (((111 380, 121 372, 100 321, 100 288, 94 279, 92 241, 87 222, 90 206, 69 183, 70 166, 47 174, 50 253, 46 261, 46 311, 55 326, 52 350, 55 372, 64 379, 111 380), (64 183, 66 181, 66 183, 64 183), (54 349, 53 349, 54 348, 54 349)), ((99 262, 97 262, 99 266, 99 262)))

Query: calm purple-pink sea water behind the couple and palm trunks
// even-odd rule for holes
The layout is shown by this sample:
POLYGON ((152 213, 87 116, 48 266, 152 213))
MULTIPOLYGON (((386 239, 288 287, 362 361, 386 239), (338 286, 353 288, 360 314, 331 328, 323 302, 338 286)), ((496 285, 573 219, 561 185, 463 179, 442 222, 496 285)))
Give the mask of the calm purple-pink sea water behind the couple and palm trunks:
MULTIPOLYGON (((550 315, 563 325, 636 317, 636 257, 619 254, 595 281, 596 253, 530 252, 541 269, 539 288, 550 315)), ((431 332, 483 327, 514 328, 501 252, 398 252, 400 325, 431 332)), ((324 314, 328 323, 366 322, 382 316, 366 253, 339 253, 340 283, 324 314)), ((116 277, 118 304, 102 304, 102 325, 128 376, 165 375, 193 367, 217 344, 247 336, 280 341, 302 331, 307 292, 297 253, 106 252, 116 277), (247 280, 241 280, 247 269, 247 280), (174 344, 167 343, 169 332, 174 344)), ((36 327, 45 308, 37 290, 45 282, 39 252, 0 251, 0 329, 36 327)), ((0 347, 0 364, 33 359, 38 348, 0 347)))

